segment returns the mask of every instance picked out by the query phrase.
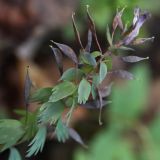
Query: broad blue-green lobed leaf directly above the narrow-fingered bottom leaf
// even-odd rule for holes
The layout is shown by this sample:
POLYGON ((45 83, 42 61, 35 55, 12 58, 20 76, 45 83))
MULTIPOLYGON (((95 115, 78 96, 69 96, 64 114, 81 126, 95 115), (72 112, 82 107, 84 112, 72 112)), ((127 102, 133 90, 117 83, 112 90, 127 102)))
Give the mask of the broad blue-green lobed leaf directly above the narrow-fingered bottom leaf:
POLYGON ((40 108, 39 121, 41 123, 55 123, 64 111, 61 101, 44 103, 40 108))

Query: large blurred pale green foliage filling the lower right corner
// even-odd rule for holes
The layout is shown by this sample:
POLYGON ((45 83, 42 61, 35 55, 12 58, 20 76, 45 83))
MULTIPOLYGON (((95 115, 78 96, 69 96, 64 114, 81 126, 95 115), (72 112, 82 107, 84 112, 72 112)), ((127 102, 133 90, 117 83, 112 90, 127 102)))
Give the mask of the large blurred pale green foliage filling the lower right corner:
POLYGON ((145 66, 134 68, 136 79, 116 86, 106 110, 109 127, 95 136, 89 151, 77 150, 75 160, 159 160, 159 113, 150 124, 141 122, 148 102, 149 74, 145 66))

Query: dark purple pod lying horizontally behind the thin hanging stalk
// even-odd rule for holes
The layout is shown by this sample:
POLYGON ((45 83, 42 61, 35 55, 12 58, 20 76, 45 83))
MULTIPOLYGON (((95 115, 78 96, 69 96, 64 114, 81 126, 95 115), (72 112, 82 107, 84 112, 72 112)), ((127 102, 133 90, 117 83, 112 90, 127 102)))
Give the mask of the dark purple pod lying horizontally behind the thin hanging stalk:
MULTIPOLYGON (((102 100, 102 107, 105 107, 107 104, 110 104, 111 101, 102 100)), ((88 101, 85 104, 81 104, 81 107, 87 109, 99 109, 100 108, 100 101, 99 100, 92 100, 88 101)))

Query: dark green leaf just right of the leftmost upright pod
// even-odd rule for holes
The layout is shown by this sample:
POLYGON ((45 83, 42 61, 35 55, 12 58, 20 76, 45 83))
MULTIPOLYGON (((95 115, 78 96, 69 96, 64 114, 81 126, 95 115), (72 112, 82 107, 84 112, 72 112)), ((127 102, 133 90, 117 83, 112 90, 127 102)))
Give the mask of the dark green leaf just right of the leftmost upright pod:
POLYGON ((51 87, 47 88, 40 88, 36 90, 31 96, 30 96, 30 102, 39 102, 39 103, 44 103, 49 100, 49 97, 52 94, 52 89, 51 87))

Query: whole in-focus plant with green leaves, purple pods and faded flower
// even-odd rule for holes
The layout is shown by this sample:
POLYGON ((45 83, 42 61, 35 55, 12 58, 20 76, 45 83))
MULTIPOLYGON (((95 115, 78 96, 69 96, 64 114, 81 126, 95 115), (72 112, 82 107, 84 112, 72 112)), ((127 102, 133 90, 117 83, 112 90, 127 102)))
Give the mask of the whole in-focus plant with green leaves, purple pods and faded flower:
MULTIPOLYGON (((69 137, 85 146, 79 134, 69 123, 74 109, 81 106, 89 109, 99 109, 99 123, 101 122, 102 108, 111 101, 107 100, 110 95, 112 83, 102 86, 104 79, 113 74, 125 79, 133 79, 134 76, 128 71, 113 70, 112 57, 121 50, 133 50, 132 45, 142 44, 152 38, 137 38, 143 23, 150 17, 149 13, 142 12, 139 8, 134 10, 132 25, 127 29, 122 22, 124 9, 117 11, 113 20, 112 33, 107 28, 107 40, 109 47, 102 51, 94 21, 87 7, 88 21, 88 41, 84 46, 78 32, 74 13, 72 23, 77 42, 80 46, 80 53, 77 55, 74 50, 61 43, 54 41, 50 45, 60 72, 60 79, 54 87, 40 88, 30 95, 31 80, 27 72, 25 82, 25 104, 38 102, 40 107, 35 112, 28 112, 27 118, 25 111, 17 111, 22 116, 21 120, 0 120, 0 149, 11 150, 10 157, 18 157, 19 154, 13 146, 32 139, 27 151, 27 157, 36 155, 42 151, 47 135, 57 137, 58 141, 65 142, 69 137), (119 39, 115 40, 115 33, 118 28, 121 30, 119 39), (97 50, 93 50, 92 40, 95 41, 97 50), (129 47, 128 47, 129 45, 129 47), (63 54, 70 58, 75 67, 69 68, 64 72, 63 54), (64 110, 68 112, 64 115, 64 110), (16 134, 15 134, 16 131, 16 134), (12 135, 12 138, 11 138, 12 135), (33 138, 34 137, 34 138, 33 138)), ((147 58, 137 56, 124 56, 124 62, 138 62, 147 58)))

